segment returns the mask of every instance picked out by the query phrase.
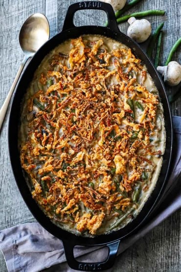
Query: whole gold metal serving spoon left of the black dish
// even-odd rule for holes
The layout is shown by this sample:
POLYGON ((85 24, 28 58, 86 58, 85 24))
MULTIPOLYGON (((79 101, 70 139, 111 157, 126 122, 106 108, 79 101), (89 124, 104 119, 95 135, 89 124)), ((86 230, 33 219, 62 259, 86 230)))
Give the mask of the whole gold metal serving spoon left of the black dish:
POLYGON ((49 39, 49 24, 45 15, 42 13, 35 13, 28 17, 22 25, 19 35, 20 46, 24 53, 23 62, 18 70, 15 80, 9 90, 9 93, 0 109, 0 129, 3 124, 6 111, 17 85, 18 79, 22 73, 26 61, 32 57, 36 51, 49 39))

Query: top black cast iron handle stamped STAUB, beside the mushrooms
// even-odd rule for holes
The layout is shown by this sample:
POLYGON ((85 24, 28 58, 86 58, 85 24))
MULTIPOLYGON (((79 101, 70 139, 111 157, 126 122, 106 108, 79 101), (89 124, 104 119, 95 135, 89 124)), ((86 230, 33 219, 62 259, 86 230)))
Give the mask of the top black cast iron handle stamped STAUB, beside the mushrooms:
POLYGON ((85 1, 85 2, 77 2, 68 7, 68 11, 66 14, 66 19, 64 21, 63 25, 63 31, 67 30, 69 28, 76 27, 73 24, 73 16, 76 11, 82 10, 82 9, 98 9, 98 10, 104 10, 108 16, 108 28, 111 28, 114 31, 118 31, 119 28, 117 26, 115 14, 113 11, 113 7, 104 2, 100 1, 85 1))

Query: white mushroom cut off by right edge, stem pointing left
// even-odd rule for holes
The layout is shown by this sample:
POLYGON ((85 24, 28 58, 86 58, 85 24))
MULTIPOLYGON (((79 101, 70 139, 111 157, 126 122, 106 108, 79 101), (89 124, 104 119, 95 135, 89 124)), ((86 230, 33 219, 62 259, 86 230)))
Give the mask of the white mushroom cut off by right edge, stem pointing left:
POLYGON ((168 85, 176 86, 181 82, 181 65, 177 61, 170 61, 167 66, 158 66, 157 70, 168 85))

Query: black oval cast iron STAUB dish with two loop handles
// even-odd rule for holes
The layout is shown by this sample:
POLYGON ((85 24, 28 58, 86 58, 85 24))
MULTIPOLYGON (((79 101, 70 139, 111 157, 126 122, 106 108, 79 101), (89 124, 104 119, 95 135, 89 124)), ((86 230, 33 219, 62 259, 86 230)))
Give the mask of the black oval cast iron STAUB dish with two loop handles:
POLYGON ((86 1, 78 2, 72 4, 68 8, 67 16, 64 22, 63 30, 61 33, 54 36, 52 39, 47 41, 41 49, 34 55, 31 62, 24 71, 19 84, 17 86, 16 92, 13 97, 10 117, 9 117, 9 127, 8 127, 8 141, 9 141, 9 154, 13 173, 22 194, 22 197, 30 209, 31 213, 34 215, 36 220, 51 234, 61 239, 64 244, 65 254, 67 257, 68 265, 75 270, 86 270, 86 271, 97 271, 109 269, 113 266, 113 262, 117 253, 117 249, 121 239, 130 235, 135 231, 140 225, 145 221, 153 208, 156 207, 158 198, 162 193, 164 184, 166 182, 170 161, 172 153, 172 120, 169 108, 169 103, 166 97, 163 83, 158 76, 153 64, 142 51, 142 49, 130 39, 125 34, 121 33, 118 29, 113 8, 110 4, 96 1, 86 1), (108 15, 109 25, 108 27, 103 26, 80 26, 75 27, 73 25, 73 15, 77 10, 81 9, 99 9, 104 10, 108 15), (98 34, 110 37, 117 40, 129 48, 131 48, 136 55, 140 58, 146 65, 149 74, 152 76, 154 83, 156 84, 161 102, 163 104, 164 116, 165 116, 165 129, 166 129, 166 148, 163 156, 163 164, 161 168, 160 175, 154 191, 148 198, 141 212, 137 215, 131 223, 126 225, 124 228, 112 233, 95 236, 94 238, 76 236, 66 230, 63 230, 53 224, 50 219, 44 214, 44 212, 39 208, 38 204, 32 198, 30 190, 26 184, 25 178, 23 176, 23 171, 20 163, 20 155, 18 150, 18 130, 21 114, 21 101, 23 95, 29 82, 31 81, 33 74, 45 55, 53 48, 61 44, 67 39, 77 38, 83 34, 98 34), (13 133, 12 133, 13 131, 13 133), (82 263, 75 260, 73 255, 73 248, 76 245, 82 246, 97 246, 105 245, 109 247, 109 255, 106 261, 100 263, 82 263))

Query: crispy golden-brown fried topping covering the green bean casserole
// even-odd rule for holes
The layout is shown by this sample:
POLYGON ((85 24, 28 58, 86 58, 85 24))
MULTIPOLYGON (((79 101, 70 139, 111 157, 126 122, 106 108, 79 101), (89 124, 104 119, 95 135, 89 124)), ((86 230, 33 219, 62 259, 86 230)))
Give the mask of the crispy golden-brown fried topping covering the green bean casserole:
POLYGON ((69 55, 51 58, 42 88, 27 101, 21 164, 50 218, 95 235, 134 205, 145 165, 154 168, 148 154, 160 153, 150 142, 158 96, 144 86, 147 72, 131 49, 107 51, 103 40, 82 37, 71 45, 69 55))

